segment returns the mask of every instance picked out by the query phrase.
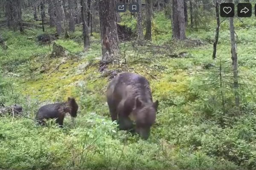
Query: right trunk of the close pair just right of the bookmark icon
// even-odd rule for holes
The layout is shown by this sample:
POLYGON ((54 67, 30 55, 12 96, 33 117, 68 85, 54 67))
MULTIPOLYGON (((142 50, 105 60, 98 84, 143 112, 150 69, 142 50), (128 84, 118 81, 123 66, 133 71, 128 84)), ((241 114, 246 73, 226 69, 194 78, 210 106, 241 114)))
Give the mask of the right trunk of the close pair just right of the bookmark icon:
POLYGON ((153 13, 153 2, 152 0, 145 0, 146 4, 146 34, 145 34, 145 40, 151 40, 151 18, 153 13))

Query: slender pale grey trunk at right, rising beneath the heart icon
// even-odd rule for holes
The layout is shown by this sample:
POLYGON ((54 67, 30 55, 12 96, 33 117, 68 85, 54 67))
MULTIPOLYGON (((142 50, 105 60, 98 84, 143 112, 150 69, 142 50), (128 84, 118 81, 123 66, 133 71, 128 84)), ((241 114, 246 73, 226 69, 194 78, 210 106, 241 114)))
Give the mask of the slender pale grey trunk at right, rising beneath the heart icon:
MULTIPOLYGON (((233 0, 229 0, 229 3, 232 3, 233 0)), ((234 18, 229 18, 230 23, 230 42, 231 42, 231 54, 232 54, 232 67, 233 67, 233 77, 234 77, 234 93, 235 93, 235 103, 239 107, 239 77, 238 77, 238 65, 237 65, 237 54, 236 54, 236 40, 235 40, 235 27, 234 27, 234 18)))

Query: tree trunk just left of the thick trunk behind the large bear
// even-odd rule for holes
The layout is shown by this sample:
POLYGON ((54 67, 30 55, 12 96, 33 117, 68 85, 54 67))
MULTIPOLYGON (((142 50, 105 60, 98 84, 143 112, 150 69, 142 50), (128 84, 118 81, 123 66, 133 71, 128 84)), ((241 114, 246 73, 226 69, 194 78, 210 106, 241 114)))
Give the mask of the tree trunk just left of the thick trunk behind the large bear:
POLYGON ((81 4, 81 15, 82 15, 82 21, 83 21, 84 51, 86 51, 88 48, 90 48, 89 28, 86 21, 89 13, 87 0, 81 0, 80 4, 81 4))

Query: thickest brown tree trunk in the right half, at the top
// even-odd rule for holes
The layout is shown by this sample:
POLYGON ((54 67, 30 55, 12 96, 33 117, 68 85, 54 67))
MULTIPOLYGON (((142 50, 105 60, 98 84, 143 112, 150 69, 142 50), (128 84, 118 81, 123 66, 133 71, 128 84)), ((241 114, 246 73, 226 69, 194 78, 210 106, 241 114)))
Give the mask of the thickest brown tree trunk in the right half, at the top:
POLYGON ((177 40, 186 39, 183 0, 172 1, 172 37, 177 40))

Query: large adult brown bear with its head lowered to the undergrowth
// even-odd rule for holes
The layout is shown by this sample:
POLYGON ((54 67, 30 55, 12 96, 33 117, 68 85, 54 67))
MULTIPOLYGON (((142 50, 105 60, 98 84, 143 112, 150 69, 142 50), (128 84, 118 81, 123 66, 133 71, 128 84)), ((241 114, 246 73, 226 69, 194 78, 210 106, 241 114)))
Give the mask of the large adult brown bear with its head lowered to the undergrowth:
POLYGON ((139 74, 124 72, 108 85, 107 102, 112 121, 117 120, 120 130, 133 129, 148 139, 150 127, 156 119, 158 100, 153 102, 148 80, 139 74))

